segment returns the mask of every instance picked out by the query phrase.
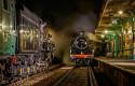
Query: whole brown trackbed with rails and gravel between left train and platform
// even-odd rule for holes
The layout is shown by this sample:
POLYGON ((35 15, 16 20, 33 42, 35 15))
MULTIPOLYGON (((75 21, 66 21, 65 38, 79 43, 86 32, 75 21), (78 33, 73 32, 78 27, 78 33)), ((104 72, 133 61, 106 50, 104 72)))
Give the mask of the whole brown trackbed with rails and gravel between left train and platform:
MULTIPOLYGON (((62 67, 56 70, 50 71, 49 73, 41 73, 35 76, 12 84, 10 86, 107 86, 106 82, 100 83, 99 73, 91 67, 62 67), (96 75, 95 75, 96 74, 96 75), (96 77, 95 77, 96 76, 96 77), (99 77, 99 80, 97 78, 99 77), (97 82, 96 82, 97 81, 97 82), (97 84, 98 83, 98 84, 97 84), (102 85, 103 84, 103 85, 102 85)), ((103 78, 102 78, 103 80, 103 78)), ((106 78, 104 78, 106 80, 106 78)), ((107 81, 107 80, 106 80, 107 81)), ((108 86, 110 86, 108 84, 108 86)))

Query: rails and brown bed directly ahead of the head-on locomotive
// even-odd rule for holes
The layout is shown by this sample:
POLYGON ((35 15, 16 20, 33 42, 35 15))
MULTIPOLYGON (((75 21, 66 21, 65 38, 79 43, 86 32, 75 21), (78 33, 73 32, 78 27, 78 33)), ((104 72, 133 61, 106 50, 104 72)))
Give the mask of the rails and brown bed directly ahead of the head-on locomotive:
POLYGON ((91 67, 73 68, 53 86, 98 86, 91 67))

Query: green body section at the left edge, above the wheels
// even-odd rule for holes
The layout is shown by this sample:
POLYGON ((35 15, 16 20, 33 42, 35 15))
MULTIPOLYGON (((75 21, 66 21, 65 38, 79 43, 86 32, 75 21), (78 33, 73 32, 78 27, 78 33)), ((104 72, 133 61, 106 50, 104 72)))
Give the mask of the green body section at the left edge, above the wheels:
POLYGON ((15 0, 0 0, 0 55, 15 54, 15 0))

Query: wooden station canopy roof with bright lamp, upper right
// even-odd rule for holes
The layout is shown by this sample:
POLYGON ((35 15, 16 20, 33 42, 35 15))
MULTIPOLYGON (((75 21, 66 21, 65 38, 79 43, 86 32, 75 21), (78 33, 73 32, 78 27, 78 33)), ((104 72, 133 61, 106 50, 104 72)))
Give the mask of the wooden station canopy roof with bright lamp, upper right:
POLYGON ((114 17, 135 16, 135 0, 106 0, 96 30, 108 29, 114 17))

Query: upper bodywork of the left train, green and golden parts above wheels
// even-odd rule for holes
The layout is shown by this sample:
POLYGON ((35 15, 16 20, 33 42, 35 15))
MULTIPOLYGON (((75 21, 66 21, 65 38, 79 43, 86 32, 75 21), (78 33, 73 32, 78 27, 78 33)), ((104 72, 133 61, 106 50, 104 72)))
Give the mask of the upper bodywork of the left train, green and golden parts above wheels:
POLYGON ((19 0, 0 0, 0 56, 36 52, 41 19, 19 0))

